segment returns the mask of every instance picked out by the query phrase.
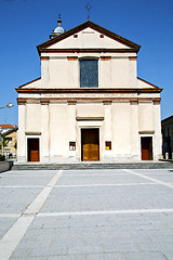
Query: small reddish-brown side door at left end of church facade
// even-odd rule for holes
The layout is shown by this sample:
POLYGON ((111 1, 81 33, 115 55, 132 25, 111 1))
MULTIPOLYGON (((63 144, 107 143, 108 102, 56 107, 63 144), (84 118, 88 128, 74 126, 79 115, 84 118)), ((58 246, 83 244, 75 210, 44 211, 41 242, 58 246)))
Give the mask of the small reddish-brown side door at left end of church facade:
POLYGON ((39 161, 39 139, 28 139, 28 161, 39 161))

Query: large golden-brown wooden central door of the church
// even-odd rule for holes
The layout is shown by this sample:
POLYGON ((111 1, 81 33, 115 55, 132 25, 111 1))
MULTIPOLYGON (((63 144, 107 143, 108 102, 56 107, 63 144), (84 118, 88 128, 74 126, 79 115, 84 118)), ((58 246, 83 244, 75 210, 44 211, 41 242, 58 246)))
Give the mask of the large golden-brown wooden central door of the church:
POLYGON ((81 159, 99 160, 99 129, 81 129, 81 159))

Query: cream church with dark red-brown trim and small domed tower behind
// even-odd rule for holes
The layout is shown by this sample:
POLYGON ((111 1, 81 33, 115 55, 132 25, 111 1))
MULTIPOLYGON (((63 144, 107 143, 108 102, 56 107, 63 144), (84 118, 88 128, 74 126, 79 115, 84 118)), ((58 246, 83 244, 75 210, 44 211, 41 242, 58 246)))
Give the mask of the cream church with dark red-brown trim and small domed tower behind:
POLYGON ((137 77, 141 46, 61 17, 37 47, 41 77, 18 93, 18 162, 158 160, 161 89, 137 77))

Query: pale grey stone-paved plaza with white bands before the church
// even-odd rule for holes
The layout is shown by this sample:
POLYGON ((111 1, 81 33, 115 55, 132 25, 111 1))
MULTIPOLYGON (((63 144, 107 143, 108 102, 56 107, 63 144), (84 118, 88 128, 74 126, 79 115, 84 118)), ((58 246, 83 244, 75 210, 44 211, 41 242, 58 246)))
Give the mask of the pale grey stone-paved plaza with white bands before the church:
POLYGON ((172 260, 173 169, 0 174, 0 260, 172 260))

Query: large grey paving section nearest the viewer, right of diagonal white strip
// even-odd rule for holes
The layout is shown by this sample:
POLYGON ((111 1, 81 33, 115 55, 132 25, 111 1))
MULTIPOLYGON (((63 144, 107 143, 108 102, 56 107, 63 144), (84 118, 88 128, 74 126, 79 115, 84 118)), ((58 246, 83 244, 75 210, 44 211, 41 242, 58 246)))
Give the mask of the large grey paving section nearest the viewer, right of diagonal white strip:
POLYGON ((11 259, 24 255, 26 259, 40 255, 48 259, 55 259, 55 256, 57 259, 63 256, 64 259, 74 256, 77 259, 81 256, 85 256, 84 259, 165 259, 161 251, 173 251, 173 236, 168 238, 164 233, 167 230, 170 234, 173 232, 173 226, 170 230, 165 223, 172 223, 173 213, 167 216, 168 219, 164 217, 160 214, 158 229, 149 221, 149 214, 148 220, 146 214, 37 217, 11 259))

